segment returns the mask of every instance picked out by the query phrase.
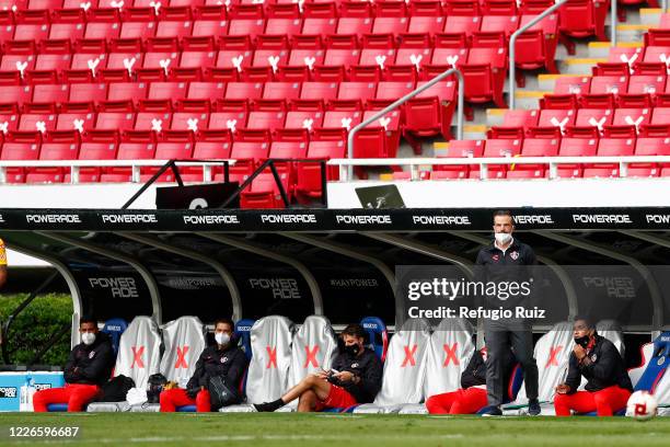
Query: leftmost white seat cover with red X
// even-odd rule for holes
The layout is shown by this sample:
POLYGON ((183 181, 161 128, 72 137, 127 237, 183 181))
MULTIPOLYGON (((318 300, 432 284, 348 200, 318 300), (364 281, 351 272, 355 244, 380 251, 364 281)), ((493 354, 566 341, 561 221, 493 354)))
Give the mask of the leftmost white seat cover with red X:
POLYGON ((126 376, 137 388, 147 388, 149 376, 157 374, 161 362, 161 335, 155 321, 136 317, 122 334, 114 376, 126 376))

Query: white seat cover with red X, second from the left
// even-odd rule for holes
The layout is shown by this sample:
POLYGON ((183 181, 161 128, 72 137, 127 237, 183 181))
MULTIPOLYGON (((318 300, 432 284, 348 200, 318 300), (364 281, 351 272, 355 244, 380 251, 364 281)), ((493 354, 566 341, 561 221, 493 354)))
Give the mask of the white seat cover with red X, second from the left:
POLYGON ((205 328, 197 317, 181 317, 163 328, 161 373, 168 380, 185 386, 193 376, 198 357, 206 346, 205 328))

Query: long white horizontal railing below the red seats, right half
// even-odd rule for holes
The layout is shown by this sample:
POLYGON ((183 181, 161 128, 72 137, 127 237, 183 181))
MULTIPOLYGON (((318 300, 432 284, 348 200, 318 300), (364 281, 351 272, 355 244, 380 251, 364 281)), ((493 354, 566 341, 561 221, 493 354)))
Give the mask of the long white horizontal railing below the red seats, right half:
POLYGON ((562 164, 616 164, 619 175, 627 176, 629 164, 670 163, 670 156, 625 156, 625 157, 496 157, 496 158, 411 158, 411 159, 332 159, 327 164, 339 167, 339 181, 350 181, 348 171, 353 167, 409 167, 412 180, 419 180, 421 165, 475 165, 480 168, 480 179, 488 179, 488 167, 505 164, 548 165, 550 179, 558 179, 562 164))

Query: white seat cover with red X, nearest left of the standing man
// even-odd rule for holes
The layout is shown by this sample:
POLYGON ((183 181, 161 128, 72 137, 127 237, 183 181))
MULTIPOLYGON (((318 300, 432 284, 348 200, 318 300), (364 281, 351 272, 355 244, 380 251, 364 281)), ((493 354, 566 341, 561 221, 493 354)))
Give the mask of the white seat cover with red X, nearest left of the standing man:
POLYGON ((424 383, 425 397, 461 388, 461 374, 474 353, 472 324, 464 319, 443 319, 430 336, 424 383))

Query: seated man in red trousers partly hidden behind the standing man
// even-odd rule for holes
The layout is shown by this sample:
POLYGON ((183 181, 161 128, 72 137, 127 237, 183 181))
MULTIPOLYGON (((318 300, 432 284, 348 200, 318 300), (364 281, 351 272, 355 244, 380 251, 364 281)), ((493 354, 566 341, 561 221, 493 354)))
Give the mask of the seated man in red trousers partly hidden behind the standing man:
MULTIPOLYGON (((504 362, 504 382, 515 366, 515 358, 509 354, 504 362)), ((452 392, 431 396, 426 400, 426 409, 430 414, 474 414, 488 403, 486 392, 486 349, 475 351, 461 374, 461 389, 452 392)))

